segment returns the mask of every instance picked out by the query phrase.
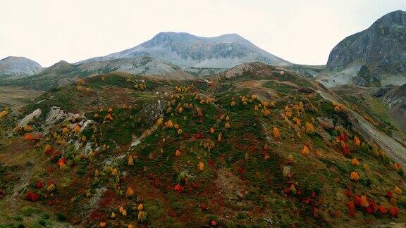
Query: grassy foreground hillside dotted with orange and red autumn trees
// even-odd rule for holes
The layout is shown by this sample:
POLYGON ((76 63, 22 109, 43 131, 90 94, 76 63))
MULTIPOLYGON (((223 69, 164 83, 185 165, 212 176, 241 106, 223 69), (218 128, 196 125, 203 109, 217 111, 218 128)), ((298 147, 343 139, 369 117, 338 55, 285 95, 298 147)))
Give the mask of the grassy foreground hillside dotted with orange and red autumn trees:
POLYGON ((317 90, 252 63, 202 80, 114 73, 48 91, 0 120, 0 224, 404 224, 401 165, 317 90))

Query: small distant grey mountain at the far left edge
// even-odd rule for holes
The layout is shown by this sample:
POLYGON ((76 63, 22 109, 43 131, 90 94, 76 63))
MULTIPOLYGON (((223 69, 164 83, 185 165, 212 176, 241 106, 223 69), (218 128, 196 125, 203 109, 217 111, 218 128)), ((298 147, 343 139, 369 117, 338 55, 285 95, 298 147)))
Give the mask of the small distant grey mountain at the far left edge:
POLYGON ((25 57, 8 56, 0 60, 0 77, 23 77, 42 70, 39 63, 25 57))

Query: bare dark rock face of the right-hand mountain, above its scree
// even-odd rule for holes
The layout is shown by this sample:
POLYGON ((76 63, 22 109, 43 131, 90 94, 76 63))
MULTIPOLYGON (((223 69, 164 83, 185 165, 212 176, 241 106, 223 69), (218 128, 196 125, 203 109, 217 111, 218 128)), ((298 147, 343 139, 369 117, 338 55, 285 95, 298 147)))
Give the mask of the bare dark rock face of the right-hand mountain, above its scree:
POLYGON ((328 56, 328 69, 340 71, 350 65, 367 65, 374 77, 405 72, 406 12, 388 13, 337 44, 328 56))

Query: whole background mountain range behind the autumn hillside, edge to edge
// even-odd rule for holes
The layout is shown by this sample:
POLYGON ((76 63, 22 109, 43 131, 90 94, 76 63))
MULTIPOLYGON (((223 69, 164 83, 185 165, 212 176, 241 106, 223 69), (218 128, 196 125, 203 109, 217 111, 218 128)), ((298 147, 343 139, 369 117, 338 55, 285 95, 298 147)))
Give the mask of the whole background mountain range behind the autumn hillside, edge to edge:
POLYGON ((73 64, 56 64, 47 69, 27 58, 4 58, 0 61, 0 84, 49 89, 77 78, 115 71, 190 79, 255 61, 316 77, 327 87, 400 85, 406 82, 406 12, 383 15, 367 30, 343 39, 331 51, 326 66, 289 63, 238 34, 197 37, 185 32, 161 32, 124 51, 73 64), (27 78, 23 80, 23 77, 27 78), (44 79, 47 81, 42 82, 44 79))

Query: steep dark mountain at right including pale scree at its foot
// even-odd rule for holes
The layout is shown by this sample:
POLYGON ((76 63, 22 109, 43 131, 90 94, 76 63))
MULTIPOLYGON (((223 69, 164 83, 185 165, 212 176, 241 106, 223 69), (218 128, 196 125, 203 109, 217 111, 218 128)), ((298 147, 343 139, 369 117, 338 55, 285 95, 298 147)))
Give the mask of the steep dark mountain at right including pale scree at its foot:
POLYGON ((363 86, 405 83, 406 12, 383 15, 367 30, 343 39, 328 56, 327 68, 363 86), (367 74, 357 74, 362 67, 367 74))

